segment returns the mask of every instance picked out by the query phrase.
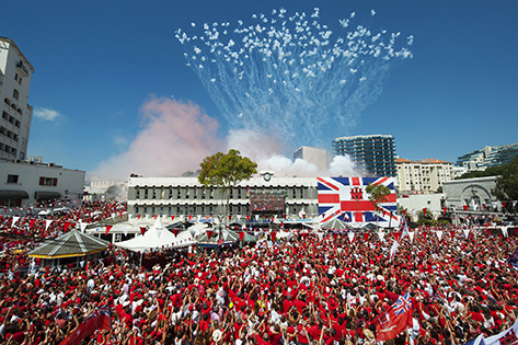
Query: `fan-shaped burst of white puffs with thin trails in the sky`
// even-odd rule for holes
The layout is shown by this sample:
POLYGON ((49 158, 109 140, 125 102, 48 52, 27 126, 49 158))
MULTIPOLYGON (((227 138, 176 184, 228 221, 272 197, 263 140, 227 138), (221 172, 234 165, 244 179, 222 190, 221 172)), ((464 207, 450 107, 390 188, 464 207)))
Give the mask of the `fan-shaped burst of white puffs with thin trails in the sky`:
POLYGON ((400 33, 349 28, 354 18, 335 34, 319 9, 280 9, 250 24, 193 23, 193 34, 179 30, 176 38, 231 128, 275 133, 290 147, 329 145, 377 99, 393 61, 412 57, 412 36, 398 44, 400 33))

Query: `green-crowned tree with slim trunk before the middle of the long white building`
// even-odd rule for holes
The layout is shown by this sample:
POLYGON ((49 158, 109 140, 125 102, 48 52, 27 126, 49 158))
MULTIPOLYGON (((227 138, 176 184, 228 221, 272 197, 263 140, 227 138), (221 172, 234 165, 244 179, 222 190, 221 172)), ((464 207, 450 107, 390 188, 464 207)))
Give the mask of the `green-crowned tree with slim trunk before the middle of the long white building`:
POLYGON ((199 166, 202 168, 198 175, 199 183, 205 186, 217 186, 227 193, 227 215, 230 209, 230 189, 257 173, 257 164, 250 158, 242 157, 238 150, 206 157, 199 166))

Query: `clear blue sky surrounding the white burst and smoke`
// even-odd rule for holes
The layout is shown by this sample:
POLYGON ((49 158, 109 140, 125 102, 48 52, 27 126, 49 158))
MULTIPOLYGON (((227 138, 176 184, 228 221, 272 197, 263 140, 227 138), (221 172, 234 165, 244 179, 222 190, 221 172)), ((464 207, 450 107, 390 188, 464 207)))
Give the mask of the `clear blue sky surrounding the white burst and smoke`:
POLYGON ((246 22, 281 7, 318 7, 331 25, 356 12, 373 28, 414 36, 413 58, 392 68, 380 96, 343 135, 391 134, 398 156, 415 160, 456 161, 518 141, 515 0, 5 0, 0 35, 14 39, 36 70, 30 103, 58 114, 33 117, 28 154, 92 172, 136 145, 146 130, 142 106, 153 97, 198 105, 218 122, 216 137, 225 137, 229 125, 185 66, 174 32, 191 22, 246 22))

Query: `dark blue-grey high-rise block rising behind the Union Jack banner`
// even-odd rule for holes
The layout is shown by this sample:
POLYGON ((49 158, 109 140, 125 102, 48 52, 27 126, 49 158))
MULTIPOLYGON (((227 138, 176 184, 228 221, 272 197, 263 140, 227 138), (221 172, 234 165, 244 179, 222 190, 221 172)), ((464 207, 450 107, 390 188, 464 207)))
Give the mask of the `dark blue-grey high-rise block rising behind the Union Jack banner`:
POLYGON ((333 140, 336 156, 349 156, 372 176, 395 176, 395 141, 389 135, 341 137, 333 140))

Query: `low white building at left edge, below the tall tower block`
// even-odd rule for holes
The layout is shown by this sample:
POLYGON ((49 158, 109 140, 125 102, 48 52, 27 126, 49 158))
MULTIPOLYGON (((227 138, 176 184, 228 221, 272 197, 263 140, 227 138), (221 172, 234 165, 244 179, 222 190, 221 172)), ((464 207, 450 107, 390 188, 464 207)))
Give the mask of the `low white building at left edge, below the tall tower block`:
POLYGON ((84 171, 54 163, 0 159, 0 206, 20 207, 56 198, 81 199, 84 171))

